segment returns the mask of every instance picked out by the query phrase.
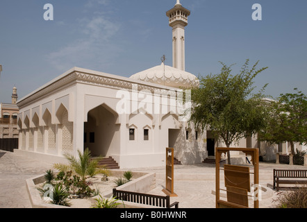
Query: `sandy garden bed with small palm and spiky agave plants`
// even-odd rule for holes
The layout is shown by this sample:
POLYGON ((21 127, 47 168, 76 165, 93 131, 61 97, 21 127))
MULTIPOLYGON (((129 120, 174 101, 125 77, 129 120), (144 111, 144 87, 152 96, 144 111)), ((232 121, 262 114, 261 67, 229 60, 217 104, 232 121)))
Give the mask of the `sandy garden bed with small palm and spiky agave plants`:
POLYGON ((97 168, 97 160, 92 160, 88 149, 78 154, 79 159, 65 156, 69 164, 53 164, 58 173, 49 169, 44 182, 35 186, 44 202, 67 207, 116 207, 115 199, 102 198, 101 194, 130 182, 133 173, 126 171, 120 177, 112 176, 108 169, 97 168), (94 199, 95 196, 100 198, 94 199))

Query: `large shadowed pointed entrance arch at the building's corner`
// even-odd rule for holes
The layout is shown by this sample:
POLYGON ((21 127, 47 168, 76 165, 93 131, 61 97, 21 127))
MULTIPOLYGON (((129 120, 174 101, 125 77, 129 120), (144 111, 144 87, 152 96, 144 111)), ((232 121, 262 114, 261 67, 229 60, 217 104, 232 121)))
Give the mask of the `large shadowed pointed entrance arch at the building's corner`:
POLYGON ((105 103, 88 112, 84 123, 84 148, 93 156, 107 156, 119 153, 120 137, 118 114, 105 103))

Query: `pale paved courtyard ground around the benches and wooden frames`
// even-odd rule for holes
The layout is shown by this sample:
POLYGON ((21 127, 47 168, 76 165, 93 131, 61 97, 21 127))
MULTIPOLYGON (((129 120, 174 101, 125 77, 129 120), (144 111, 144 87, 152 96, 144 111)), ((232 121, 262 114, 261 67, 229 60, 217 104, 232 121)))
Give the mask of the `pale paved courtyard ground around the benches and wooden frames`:
MULTIPOLYGON (((0 151, 0 208, 31 208, 26 180, 45 173, 51 165, 17 153, 0 151)), ((260 162, 260 184, 272 187, 273 169, 306 169, 303 166, 260 162)), ((124 170, 124 169, 123 169, 124 170)), ((149 194, 163 195, 165 167, 129 169, 156 173, 156 188, 149 194)), ((174 191, 180 208, 215 208, 215 165, 194 164, 174 167, 174 191)), ((270 189, 270 188, 269 188, 270 189)), ((274 207, 277 192, 270 189, 269 197, 260 200, 260 208, 274 207)), ((251 205, 252 207, 252 205, 251 205)))

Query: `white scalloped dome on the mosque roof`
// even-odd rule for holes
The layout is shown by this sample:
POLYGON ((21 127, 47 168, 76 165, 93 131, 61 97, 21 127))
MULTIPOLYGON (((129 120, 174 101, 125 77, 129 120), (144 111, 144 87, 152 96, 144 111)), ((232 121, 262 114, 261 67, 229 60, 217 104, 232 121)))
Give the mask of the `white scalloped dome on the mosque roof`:
POLYGON ((138 74, 134 74, 130 78, 176 88, 199 86, 199 80, 193 74, 181 69, 169 67, 163 63, 151 69, 141 71, 138 74))

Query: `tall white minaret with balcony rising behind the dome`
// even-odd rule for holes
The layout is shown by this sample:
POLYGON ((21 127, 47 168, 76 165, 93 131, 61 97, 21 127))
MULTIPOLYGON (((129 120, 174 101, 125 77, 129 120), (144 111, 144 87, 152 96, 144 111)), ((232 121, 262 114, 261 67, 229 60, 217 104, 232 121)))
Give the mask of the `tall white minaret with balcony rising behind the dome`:
POLYGON ((190 10, 183 8, 177 0, 174 8, 166 12, 169 26, 173 28, 173 67, 185 71, 185 26, 190 10))

